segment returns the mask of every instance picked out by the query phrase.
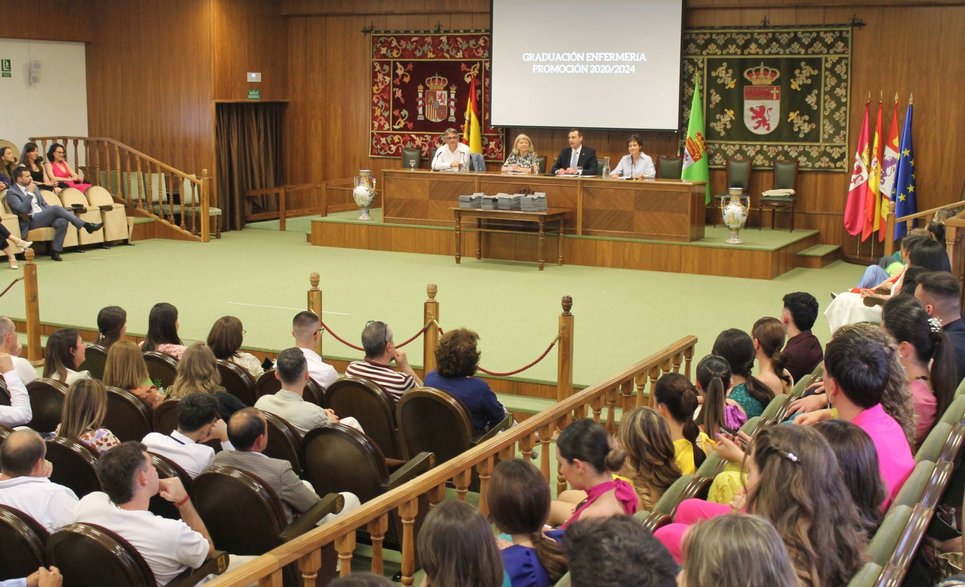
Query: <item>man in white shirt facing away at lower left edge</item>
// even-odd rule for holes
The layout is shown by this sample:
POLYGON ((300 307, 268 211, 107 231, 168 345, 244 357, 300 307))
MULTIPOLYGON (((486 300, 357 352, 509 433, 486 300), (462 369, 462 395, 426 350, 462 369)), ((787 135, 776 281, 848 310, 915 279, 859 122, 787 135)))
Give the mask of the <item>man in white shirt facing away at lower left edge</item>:
POLYGON ((0 504, 33 517, 51 534, 73 519, 77 495, 49 477, 47 445, 32 430, 17 431, 0 446, 0 504))

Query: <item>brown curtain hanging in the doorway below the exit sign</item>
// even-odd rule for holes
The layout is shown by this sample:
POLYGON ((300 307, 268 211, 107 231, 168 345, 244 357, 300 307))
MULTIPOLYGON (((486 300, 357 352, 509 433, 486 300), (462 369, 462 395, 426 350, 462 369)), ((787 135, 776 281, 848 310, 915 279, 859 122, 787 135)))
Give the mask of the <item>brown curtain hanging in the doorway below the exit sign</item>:
POLYGON ((222 230, 241 230, 245 214, 278 210, 277 197, 249 199, 249 189, 282 184, 282 124, 285 104, 217 104, 215 150, 222 230))

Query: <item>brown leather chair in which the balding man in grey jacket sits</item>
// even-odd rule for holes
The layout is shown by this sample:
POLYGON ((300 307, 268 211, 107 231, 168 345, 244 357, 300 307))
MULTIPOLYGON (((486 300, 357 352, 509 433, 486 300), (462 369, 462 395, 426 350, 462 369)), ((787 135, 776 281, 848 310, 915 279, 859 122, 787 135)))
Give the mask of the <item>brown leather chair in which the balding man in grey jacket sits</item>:
MULTIPOLYGON (((212 466, 191 484, 191 500, 205 521, 211 540, 232 554, 259 555, 315 528, 318 520, 341 511, 338 493, 321 498, 308 512, 287 524, 282 502, 257 476, 231 466, 212 466)), ((317 585, 327 585, 335 573, 335 550, 322 550, 317 585)), ((286 569, 294 584, 295 566, 286 569)))

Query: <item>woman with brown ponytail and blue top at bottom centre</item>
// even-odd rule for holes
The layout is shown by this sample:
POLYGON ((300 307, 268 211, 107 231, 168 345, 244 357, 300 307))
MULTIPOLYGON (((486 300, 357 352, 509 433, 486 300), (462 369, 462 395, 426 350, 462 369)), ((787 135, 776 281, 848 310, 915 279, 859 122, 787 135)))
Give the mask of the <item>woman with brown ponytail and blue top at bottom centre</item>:
POLYGON ((510 540, 498 540, 512 587, 549 587, 566 573, 563 546, 543 534, 549 518, 549 486, 522 459, 502 461, 489 480, 489 519, 510 540))

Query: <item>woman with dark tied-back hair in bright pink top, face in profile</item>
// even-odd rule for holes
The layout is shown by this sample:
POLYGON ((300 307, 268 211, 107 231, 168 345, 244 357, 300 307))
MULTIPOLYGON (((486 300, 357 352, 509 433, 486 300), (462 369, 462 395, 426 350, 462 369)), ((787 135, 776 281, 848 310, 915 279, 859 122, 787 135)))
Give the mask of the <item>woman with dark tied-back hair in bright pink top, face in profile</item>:
POLYGON ((637 493, 622 479, 614 479, 626 461, 626 453, 614 446, 606 429, 589 418, 573 422, 556 441, 556 460, 569 487, 586 491, 586 499, 574 505, 561 494, 551 507, 551 523, 562 528, 581 517, 632 516, 637 493))

